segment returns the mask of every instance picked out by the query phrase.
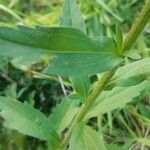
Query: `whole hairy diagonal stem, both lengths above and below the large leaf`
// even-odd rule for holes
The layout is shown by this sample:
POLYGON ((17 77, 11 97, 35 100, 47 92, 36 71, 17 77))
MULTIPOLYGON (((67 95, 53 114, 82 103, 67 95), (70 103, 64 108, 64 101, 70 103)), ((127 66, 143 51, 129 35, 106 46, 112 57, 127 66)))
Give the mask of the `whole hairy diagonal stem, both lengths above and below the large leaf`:
MULTIPOLYGON (((144 29, 146 23, 148 22, 149 17, 150 17, 150 0, 147 0, 141 13, 139 14, 139 17, 136 19, 131 30, 129 31, 128 35, 126 36, 126 39, 123 43, 122 52, 124 52, 125 50, 129 50, 132 47, 133 43, 136 41, 137 37, 139 36, 141 31, 144 29)), ((70 137, 72 135, 72 132, 73 132, 74 128, 76 127, 76 125, 84 119, 87 111, 89 110, 91 105, 96 101, 97 97, 102 93, 103 89, 105 88, 105 86, 109 82, 109 80, 112 78, 112 76, 116 72, 117 68, 118 67, 116 67, 102 75, 101 79, 98 81, 98 83, 95 86, 95 88, 93 89, 92 93, 88 96, 85 103, 81 107, 76 118, 73 120, 73 123, 71 124, 71 127, 69 128, 69 131, 67 132, 65 138, 62 141, 64 147, 67 146, 67 144, 70 140, 70 137)))

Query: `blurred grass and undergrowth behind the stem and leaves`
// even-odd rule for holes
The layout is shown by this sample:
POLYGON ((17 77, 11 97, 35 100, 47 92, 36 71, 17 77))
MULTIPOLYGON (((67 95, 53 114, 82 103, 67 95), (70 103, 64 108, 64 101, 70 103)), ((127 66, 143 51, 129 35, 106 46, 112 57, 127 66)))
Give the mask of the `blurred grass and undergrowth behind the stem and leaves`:
MULTIPOLYGON (((122 27, 124 34, 127 33, 144 2, 144 0, 78 0, 78 5, 89 36, 104 34, 113 38, 116 24, 122 27)), ((63 0, 0 0, 0 25, 58 26, 62 7, 63 0)), ((149 40, 150 24, 127 54, 126 61, 148 57, 149 40)), ((41 69, 40 65, 35 67, 37 70, 41 69)), ((72 91, 70 86, 65 88, 68 93, 72 91)), ((61 85, 57 81, 36 79, 28 72, 17 70, 9 63, 8 58, 1 56, 0 95, 17 98, 22 102, 27 100, 46 115, 49 115, 53 107, 64 97, 61 85)), ((133 145, 131 136, 136 134, 143 137, 150 130, 150 90, 142 93, 133 104, 126 106, 122 111, 115 111, 110 116, 112 118, 104 116, 106 141, 119 144, 124 150, 131 146, 133 149, 140 149, 141 145, 136 143, 133 145)), ((4 128, 2 123, 3 119, 0 118, 0 150, 47 149, 45 142, 4 128)), ((148 148, 145 147, 146 149, 148 148)))

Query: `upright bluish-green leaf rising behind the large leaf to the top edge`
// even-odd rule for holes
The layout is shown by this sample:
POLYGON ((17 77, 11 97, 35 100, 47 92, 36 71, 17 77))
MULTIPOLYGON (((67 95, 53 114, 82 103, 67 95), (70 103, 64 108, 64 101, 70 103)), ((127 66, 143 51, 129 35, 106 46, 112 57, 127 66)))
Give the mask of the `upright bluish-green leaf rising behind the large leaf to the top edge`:
POLYGON ((75 27, 86 33, 86 25, 76 4, 76 0, 65 0, 60 26, 75 27))

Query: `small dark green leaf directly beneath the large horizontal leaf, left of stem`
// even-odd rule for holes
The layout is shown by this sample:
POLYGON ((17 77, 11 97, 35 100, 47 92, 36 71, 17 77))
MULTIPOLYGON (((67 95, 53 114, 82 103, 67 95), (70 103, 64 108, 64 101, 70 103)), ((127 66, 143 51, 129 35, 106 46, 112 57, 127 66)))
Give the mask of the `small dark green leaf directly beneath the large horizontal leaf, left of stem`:
POLYGON ((85 100, 85 98, 87 98, 89 93, 90 79, 87 76, 85 77, 72 76, 70 80, 76 92, 85 100))

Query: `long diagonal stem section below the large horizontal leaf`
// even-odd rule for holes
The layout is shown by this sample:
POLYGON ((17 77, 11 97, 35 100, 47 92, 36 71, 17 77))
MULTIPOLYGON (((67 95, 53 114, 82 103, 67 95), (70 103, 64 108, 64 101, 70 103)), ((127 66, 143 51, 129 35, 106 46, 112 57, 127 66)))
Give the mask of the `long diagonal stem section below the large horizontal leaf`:
POLYGON ((84 116, 86 115, 87 111, 89 110, 90 106, 95 102, 99 94, 103 91, 104 87, 108 83, 108 81, 111 79, 111 77, 114 75, 116 71, 116 68, 104 73, 101 77, 101 79, 98 81, 97 85, 95 86, 92 93, 88 96, 88 98, 85 101, 85 104, 81 107, 79 113, 77 114, 75 120, 73 121, 68 133, 66 134, 63 144, 66 146, 68 144, 68 141, 71 137, 73 129, 76 127, 78 122, 82 121, 84 116))

